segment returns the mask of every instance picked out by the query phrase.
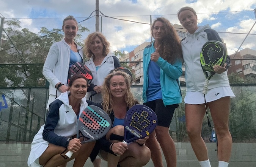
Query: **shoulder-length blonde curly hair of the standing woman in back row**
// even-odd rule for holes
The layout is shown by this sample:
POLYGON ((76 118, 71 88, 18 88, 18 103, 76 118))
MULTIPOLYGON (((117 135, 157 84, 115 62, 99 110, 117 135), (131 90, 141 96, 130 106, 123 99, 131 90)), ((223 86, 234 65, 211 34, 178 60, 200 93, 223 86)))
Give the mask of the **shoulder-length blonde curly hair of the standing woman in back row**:
POLYGON ((89 59, 94 56, 93 52, 91 51, 91 41, 96 37, 99 37, 103 44, 103 56, 107 56, 107 54, 110 52, 110 43, 107 41, 106 37, 101 32, 93 32, 85 39, 85 44, 83 46, 83 52, 89 59))

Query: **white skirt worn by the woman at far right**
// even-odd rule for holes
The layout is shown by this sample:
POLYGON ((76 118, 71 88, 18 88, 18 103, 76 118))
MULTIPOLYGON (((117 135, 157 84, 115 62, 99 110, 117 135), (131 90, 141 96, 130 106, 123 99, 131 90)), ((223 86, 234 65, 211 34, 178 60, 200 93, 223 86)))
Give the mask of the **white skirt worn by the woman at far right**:
MULTIPOLYGON (((221 97, 236 97, 230 87, 212 88, 205 95, 206 102, 212 102, 221 97)), ((202 91, 187 91, 184 98, 185 104, 204 104, 204 94, 202 91)))

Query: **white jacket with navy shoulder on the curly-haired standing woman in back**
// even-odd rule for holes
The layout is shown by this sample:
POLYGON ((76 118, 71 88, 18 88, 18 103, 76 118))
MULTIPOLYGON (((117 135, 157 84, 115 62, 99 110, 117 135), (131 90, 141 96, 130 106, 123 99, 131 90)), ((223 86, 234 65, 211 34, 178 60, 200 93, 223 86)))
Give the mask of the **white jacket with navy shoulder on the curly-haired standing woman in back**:
MULTIPOLYGON (((121 66, 118 58, 112 54, 107 54, 107 56, 105 56, 98 70, 96 70, 96 66, 93 62, 93 57, 85 62, 85 65, 91 70, 91 73, 93 74, 93 80, 91 81, 90 87, 85 95, 86 99, 89 99, 89 97, 91 96, 94 86, 102 86, 104 79, 109 74, 109 72, 121 66)), ((96 103, 102 102, 101 93, 97 93, 96 95, 94 95, 91 101, 96 103)))

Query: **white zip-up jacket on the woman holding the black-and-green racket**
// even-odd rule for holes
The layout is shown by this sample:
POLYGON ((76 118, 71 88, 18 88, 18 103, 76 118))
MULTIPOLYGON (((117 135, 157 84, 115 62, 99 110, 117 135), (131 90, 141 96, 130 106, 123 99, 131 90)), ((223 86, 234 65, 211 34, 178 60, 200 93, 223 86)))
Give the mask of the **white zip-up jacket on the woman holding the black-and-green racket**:
MULTIPOLYGON (((181 40, 182 54, 185 62, 185 80, 187 91, 203 91, 205 76, 200 63, 200 52, 204 43, 209 40, 222 42, 218 33, 211 29, 209 25, 198 26, 194 34, 187 32, 187 36, 181 40)), ((226 63, 229 67, 230 58, 227 57, 226 63)), ((208 89, 217 87, 229 87, 227 72, 215 74, 209 82, 208 89)))

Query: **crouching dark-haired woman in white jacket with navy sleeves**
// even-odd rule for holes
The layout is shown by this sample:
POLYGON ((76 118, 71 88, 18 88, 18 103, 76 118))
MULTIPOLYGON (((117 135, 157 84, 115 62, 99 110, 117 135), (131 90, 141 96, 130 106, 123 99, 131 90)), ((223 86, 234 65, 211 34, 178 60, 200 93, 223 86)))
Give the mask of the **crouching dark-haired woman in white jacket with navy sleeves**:
POLYGON ((75 75, 69 82, 68 90, 50 104, 46 122, 31 143, 29 167, 64 167, 74 158, 73 166, 83 167, 93 150, 95 142, 81 144, 79 139, 74 138, 78 118, 88 107, 85 99, 86 78, 75 75), (74 152, 70 159, 65 156, 68 151, 74 152))

